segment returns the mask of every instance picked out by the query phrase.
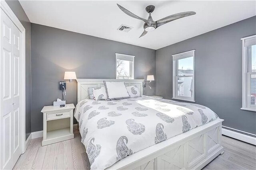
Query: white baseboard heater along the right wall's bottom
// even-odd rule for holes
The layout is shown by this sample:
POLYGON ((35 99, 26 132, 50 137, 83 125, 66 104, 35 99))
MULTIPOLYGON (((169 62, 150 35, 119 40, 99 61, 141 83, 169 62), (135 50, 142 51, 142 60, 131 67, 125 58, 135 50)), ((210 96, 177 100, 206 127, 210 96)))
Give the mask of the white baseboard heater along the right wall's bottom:
POLYGON ((232 137, 234 139, 256 145, 256 135, 230 127, 222 126, 222 135, 232 137))

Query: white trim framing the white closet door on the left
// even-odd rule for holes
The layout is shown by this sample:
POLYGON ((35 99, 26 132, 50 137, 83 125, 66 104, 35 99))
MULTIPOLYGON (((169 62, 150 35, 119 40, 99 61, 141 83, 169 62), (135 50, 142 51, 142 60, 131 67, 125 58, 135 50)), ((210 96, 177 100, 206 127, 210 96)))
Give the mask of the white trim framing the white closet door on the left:
MULTIPOLYGON (((6 15, 10 18, 10 20, 16 25, 16 27, 21 32, 21 44, 20 44, 20 50, 21 50, 21 56, 20 56, 20 117, 21 117, 21 154, 23 154, 26 151, 26 69, 25 69, 25 28, 23 27, 22 23, 18 18, 15 16, 15 14, 12 12, 11 8, 8 6, 8 4, 4 1, 0 1, 0 8, 6 13, 6 15)), ((1 122, 0 122, 1 123, 1 122)), ((0 141, 1 143, 1 141, 0 141)))

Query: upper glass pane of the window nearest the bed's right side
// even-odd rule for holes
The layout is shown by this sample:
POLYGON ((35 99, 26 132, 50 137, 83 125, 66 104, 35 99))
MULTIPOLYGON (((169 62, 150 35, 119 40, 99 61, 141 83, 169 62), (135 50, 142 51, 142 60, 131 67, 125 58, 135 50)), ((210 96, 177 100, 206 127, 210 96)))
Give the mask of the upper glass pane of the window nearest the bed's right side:
POLYGON ((193 57, 178 60, 178 75, 193 75, 193 57))

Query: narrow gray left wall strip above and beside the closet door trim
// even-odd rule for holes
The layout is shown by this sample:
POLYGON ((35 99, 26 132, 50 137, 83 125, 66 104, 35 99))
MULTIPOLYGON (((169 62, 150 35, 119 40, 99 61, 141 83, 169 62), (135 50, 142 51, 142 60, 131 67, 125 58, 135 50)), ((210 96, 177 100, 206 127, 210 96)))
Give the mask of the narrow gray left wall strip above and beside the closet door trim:
POLYGON ((31 26, 30 21, 18 0, 7 0, 6 3, 26 29, 26 139, 31 133, 31 26))

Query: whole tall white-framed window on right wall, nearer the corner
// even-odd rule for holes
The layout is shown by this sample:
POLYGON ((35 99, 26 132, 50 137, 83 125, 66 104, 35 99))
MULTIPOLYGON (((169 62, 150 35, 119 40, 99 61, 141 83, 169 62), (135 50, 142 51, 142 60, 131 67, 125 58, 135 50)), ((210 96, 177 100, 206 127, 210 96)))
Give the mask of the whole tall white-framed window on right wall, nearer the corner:
POLYGON ((172 55, 172 98, 195 102, 194 86, 195 50, 172 55))

